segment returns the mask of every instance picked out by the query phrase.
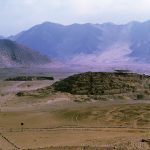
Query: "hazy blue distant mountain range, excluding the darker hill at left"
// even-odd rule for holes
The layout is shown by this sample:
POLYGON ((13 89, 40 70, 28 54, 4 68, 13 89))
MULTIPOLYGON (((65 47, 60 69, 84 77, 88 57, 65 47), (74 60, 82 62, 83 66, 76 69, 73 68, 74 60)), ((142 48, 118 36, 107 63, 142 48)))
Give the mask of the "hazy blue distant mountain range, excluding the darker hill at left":
POLYGON ((150 21, 66 26, 45 22, 9 39, 73 64, 149 63, 149 33, 150 21))

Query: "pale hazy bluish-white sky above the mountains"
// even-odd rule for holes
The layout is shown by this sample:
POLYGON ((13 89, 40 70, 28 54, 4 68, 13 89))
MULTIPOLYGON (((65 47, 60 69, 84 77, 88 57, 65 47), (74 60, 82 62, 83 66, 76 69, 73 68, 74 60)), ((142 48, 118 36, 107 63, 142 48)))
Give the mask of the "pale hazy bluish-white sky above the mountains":
POLYGON ((0 35, 45 21, 127 23, 150 19, 150 0, 0 0, 0 35))

